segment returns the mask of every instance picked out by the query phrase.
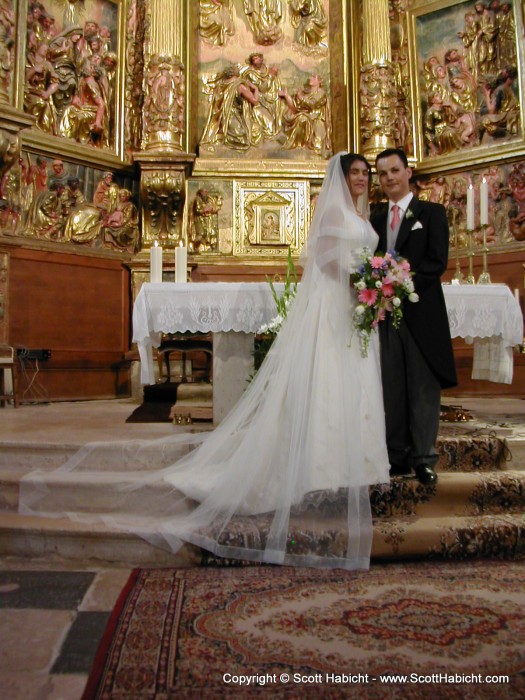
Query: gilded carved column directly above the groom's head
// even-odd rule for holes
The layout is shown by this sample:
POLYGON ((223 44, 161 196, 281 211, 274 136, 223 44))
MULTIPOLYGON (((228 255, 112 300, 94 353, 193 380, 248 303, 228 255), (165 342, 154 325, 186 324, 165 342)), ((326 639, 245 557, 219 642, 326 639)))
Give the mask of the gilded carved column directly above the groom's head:
POLYGON ((373 160, 395 146, 397 90, 391 61, 388 0, 362 0, 362 54, 359 81, 361 140, 373 160))

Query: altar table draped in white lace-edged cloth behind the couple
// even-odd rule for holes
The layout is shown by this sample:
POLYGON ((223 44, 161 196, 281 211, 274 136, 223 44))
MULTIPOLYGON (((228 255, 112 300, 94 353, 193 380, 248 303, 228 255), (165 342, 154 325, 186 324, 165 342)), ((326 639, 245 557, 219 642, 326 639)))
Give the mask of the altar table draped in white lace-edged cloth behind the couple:
MULTIPOLYGON (((280 293, 283 285, 276 284, 280 293)), ((504 284, 444 284, 450 331, 474 345, 473 379, 510 384, 523 315, 504 284)), ((253 337, 276 315, 266 282, 143 284, 133 307, 141 383, 155 383, 153 348, 163 333, 213 334, 213 419, 220 422, 253 371, 253 337)), ((429 319, 432 323, 432 319, 429 319)))

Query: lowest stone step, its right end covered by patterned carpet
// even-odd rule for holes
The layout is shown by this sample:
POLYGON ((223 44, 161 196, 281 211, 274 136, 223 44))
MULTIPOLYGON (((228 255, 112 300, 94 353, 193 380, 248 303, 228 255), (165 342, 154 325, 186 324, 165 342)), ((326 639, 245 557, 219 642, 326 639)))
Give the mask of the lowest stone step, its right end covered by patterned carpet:
MULTIPOLYGON (((380 520, 374 523, 372 560, 407 558, 466 559, 525 556, 525 515, 380 520)), ((308 533, 302 532, 308 537, 308 533)), ((292 533, 293 536, 293 533, 292 533)), ((173 554, 135 535, 102 525, 63 519, 0 513, 0 554, 18 557, 60 557, 131 566, 197 566, 228 563, 192 545, 173 554)))

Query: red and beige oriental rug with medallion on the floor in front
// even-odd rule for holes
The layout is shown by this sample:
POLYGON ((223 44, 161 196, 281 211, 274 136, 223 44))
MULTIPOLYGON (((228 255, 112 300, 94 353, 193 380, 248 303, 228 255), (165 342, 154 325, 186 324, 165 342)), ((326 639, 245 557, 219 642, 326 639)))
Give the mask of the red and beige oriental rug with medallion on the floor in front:
POLYGON ((525 562, 135 570, 83 700, 523 698, 525 562))

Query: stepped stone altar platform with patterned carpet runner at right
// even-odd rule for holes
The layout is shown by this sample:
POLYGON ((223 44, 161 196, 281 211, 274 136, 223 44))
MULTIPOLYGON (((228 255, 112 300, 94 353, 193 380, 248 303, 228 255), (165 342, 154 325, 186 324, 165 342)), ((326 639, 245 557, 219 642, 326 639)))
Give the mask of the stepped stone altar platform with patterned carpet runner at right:
MULTIPOLYGON (((436 488, 404 477, 373 488, 373 559, 525 553, 525 400, 446 397, 446 403, 460 405, 473 420, 441 423, 436 488)), ((207 563, 207 555, 195 547, 174 556, 104 527, 17 513, 20 478, 62 465, 86 442, 211 429, 210 424, 126 423, 136 406, 135 400, 122 399, 0 409, 0 556, 119 566, 207 563)))

